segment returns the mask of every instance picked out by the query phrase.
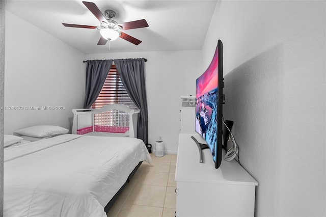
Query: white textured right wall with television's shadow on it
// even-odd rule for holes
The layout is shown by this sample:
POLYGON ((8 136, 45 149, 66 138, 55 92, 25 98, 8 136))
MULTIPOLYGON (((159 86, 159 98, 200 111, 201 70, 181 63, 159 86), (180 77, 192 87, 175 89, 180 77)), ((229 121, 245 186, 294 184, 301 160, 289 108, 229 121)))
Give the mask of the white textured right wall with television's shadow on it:
POLYGON ((256 216, 326 215, 325 9, 324 1, 216 5, 203 67, 221 39, 223 113, 259 183, 256 216))

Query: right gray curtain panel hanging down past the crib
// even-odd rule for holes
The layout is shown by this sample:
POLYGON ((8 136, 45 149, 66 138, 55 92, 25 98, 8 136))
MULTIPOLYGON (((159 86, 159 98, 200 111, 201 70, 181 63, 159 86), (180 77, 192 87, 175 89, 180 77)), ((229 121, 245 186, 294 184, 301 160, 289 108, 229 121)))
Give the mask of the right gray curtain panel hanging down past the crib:
POLYGON ((145 60, 114 60, 122 83, 130 98, 140 109, 137 125, 137 138, 148 143, 148 112, 145 87, 145 60))

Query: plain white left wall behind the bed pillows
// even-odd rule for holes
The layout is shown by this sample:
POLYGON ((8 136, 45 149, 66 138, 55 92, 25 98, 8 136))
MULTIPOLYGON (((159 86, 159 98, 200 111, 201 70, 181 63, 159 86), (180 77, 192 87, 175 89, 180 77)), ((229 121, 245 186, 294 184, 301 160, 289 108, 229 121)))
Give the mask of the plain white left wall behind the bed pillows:
POLYGON ((72 108, 85 97, 85 54, 6 11, 5 134, 51 124, 71 128, 72 108), (19 28, 17 28, 19 26, 19 28), (64 110, 26 110, 63 106, 64 110))

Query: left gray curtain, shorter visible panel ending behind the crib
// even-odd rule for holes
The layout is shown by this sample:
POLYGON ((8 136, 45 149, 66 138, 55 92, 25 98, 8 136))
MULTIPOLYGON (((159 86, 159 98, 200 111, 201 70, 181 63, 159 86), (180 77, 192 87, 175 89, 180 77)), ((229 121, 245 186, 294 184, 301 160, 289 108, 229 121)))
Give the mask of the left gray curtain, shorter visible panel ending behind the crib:
POLYGON ((113 60, 88 60, 86 65, 86 96, 84 108, 90 108, 101 92, 113 60))

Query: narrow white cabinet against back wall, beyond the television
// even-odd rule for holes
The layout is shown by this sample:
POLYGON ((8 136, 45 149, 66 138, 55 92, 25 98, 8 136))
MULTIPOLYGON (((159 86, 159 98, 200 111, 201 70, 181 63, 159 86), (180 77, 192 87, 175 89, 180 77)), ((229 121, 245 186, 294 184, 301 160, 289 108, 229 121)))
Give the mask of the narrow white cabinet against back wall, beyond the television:
POLYGON ((180 108, 180 133, 195 132, 195 107, 180 108))

